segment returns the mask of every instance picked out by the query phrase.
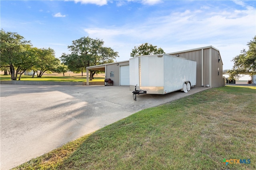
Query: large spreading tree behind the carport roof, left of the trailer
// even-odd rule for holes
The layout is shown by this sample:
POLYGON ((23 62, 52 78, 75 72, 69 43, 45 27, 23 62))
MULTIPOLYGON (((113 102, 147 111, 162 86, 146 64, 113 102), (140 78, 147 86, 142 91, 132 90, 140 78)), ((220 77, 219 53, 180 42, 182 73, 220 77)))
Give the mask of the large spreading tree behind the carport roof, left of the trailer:
MULTIPOLYGON (((86 67, 112 62, 118 57, 117 52, 103 45, 104 41, 100 39, 82 37, 72 41, 72 45, 68 46, 71 54, 63 53, 61 60, 71 71, 80 71, 83 76, 86 67)), ((90 80, 95 73, 96 70, 90 70, 90 80)))

